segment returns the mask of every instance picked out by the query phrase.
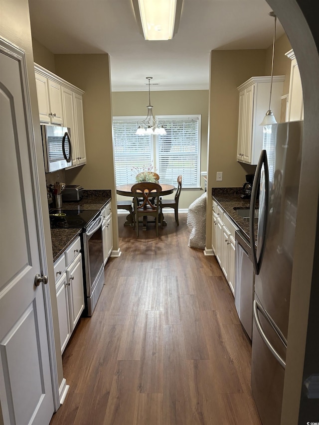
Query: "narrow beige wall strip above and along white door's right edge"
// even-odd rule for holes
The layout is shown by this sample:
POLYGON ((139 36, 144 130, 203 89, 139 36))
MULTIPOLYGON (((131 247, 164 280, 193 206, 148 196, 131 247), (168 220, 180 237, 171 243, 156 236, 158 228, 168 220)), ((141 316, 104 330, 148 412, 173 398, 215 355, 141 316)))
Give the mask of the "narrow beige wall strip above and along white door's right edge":
MULTIPOLYGON (((45 249, 46 249, 46 258, 47 258, 47 266, 48 266, 49 288, 50 288, 50 295, 51 295, 58 383, 60 385, 63 379, 63 369, 62 369, 62 358, 61 358, 61 349, 60 349, 60 333, 59 333, 59 323, 58 323, 58 315, 57 315, 55 280, 54 280, 54 272, 53 272, 51 232, 50 232, 49 216, 47 213, 44 161, 43 161, 43 152, 42 152, 42 141, 41 141, 41 135, 40 135, 39 111, 38 111, 38 103, 37 103, 36 87, 35 87, 35 75, 34 75, 34 65, 33 65, 34 60, 33 60, 33 52, 32 52, 32 39, 31 39, 28 1, 27 0, 15 0, 15 1, 1 0, 0 1, 0 16, 1 16, 0 18, 1 37, 4 37, 5 39, 11 41, 15 45, 21 47, 25 51, 25 57, 26 57, 28 85, 29 85, 31 111, 32 111, 32 122, 33 122, 34 138, 35 138, 35 148, 36 148, 37 158, 39 158, 37 168, 38 168, 38 175, 39 175, 44 237, 45 237, 45 249)), ((0 415, 0 423, 1 423, 1 415, 0 415)))

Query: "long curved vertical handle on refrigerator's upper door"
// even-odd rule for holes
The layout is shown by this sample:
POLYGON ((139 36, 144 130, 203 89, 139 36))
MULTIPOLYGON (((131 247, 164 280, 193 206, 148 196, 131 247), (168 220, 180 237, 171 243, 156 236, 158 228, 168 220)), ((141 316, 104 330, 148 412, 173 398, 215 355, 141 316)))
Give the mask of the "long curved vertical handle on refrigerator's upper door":
POLYGON ((267 152, 265 149, 261 151, 258 165, 255 172, 255 177, 253 181, 251 201, 250 201, 250 211, 249 211, 249 235, 250 235, 250 247, 252 252, 252 260, 255 270, 255 275, 259 275, 261 264, 263 261, 263 256, 265 252, 266 245, 266 231, 267 231, 267 222, 268 222, 268 213, 269 213, 269 169, 268 169, 268 160, 267 160, 267 152), (255 245, 255 205, 257 201, 257 193, 258 186, 260 185, 261 179, 261 169, 264 165, 265 170, 265 216, 263 221, 263 229, 262 229, 262 244, 260 249, 260 256, 257 259, 257 251, 255 245))

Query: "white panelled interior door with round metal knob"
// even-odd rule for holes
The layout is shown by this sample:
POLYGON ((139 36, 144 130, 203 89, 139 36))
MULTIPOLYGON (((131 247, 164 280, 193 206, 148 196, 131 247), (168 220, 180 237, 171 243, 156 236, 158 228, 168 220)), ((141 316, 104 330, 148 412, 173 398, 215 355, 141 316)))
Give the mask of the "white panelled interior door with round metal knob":
POLYGON ((54 402, 26 87, 23 52, 0 39, 0 403, 4 424, 45 425, 54 402))

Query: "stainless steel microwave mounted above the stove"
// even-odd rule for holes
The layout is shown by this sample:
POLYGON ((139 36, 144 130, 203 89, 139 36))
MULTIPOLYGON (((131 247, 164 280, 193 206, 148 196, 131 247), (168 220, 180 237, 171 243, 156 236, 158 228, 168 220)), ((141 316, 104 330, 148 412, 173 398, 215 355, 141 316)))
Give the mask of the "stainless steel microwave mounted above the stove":
POLYGON ((72 142, 67 127, 42 125, 42 144, 45 172, 72 166, 72 142))

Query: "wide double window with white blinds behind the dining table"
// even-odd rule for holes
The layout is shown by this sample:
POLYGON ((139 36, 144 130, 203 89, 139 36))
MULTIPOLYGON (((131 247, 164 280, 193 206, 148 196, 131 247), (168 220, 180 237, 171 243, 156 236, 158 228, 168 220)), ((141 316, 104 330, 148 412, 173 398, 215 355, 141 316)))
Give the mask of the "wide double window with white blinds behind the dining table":
POLYGON ((166 135, 136 136, 137 121, 145 117, 113 117, 113 148, 116 184, 135 180, 133 167, 154 164, 160 183, 183 188, 200 187, 200 115, 157 116, 166 135))

